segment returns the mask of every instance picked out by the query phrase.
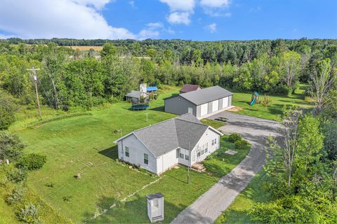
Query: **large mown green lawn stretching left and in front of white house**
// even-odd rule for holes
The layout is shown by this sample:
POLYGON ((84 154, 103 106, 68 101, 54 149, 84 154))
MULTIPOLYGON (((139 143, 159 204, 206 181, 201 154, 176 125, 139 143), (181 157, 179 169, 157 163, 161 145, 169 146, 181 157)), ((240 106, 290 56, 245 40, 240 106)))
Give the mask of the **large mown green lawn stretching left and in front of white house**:
MULTIPOLYGON (((163 112, 163 99, 177 91, 176 87, 168 87, 166 93, 159 94, 157 101, 151 102, 147 111, 131 111, 127 102, 118 102, 88 115, 17 130, 27 145, 26 152, 47 156, 46 165, 29 174, 27 185, 53 211, 74 223, 146 223, 145 195, 161 192, 165 195, 164 222, 170 222, 213 186, 220 174, 230 172, 230 167, 235 167, 242 159, 233 160, 230 165, 226 165, 227 160, 209 160, 221 167, 220 172, 213 175, 190 172, 188 184, 185 167, 172 169, 158 177, 128 169, 116 161, 115 139, 140 127, 175 117, 163 112), (149 113, 147 121, 145 113, 149 113), (78 173, 81 173, 81 179, 74 178, 78 173), (142 190, 149 183, 152 184, 142 190), (135 192, 132 197, 127 197, 135 192), (126 197, 126 202, 121 202, 126 197), (114 203, 118 206, 109 209, 114 203), (108 209, 107 213, 92 219, 104 209, 108 209)), ((221 144, 225 144, 225 148, 233 147, 225 143, 226 138, 221 144)), ((211 165, 209 167, 212 172, 211 165)))

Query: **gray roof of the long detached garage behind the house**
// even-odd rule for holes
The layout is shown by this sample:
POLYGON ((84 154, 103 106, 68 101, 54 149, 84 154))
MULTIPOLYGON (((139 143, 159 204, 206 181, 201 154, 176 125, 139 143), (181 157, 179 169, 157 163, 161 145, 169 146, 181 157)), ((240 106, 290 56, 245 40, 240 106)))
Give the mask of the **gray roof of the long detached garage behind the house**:
POLYGON ((197 91, 181 93, 179 95, 195 105, 200 105, 216 99, 228 97, 232 95, 232 92, 216 85, 197 91))

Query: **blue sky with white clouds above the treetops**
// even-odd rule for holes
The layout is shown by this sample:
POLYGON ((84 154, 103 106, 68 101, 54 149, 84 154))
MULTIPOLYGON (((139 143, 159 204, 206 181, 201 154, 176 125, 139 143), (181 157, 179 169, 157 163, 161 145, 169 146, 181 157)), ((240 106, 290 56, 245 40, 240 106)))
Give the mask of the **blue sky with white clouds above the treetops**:
POLYGON ((0 0, 0 38, 337 38, 337 0, 0 0))

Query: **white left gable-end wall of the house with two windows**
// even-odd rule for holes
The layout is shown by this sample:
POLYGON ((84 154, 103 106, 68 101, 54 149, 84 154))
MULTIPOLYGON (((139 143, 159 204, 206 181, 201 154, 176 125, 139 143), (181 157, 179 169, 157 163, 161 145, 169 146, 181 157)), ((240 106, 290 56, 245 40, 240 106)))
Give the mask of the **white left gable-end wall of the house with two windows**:
POLYGON ((154 157, 151 151, 146 148, 134 134, 118 141, 118 158, 134 165, 140 165, 143 169, 157 174, 157 158, 154 157), (125 154, 125 146, 128 147, 128 157, 126 157, 125 154), (144 163, 144 153, 148 155, 148 165, 144 163))

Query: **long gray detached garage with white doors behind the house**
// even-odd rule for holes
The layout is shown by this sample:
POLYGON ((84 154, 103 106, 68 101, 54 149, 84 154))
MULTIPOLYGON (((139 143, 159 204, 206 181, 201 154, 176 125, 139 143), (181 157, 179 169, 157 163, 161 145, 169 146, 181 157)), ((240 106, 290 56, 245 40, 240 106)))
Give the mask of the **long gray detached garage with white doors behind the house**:
POLYGON ((183 115, 192 113, 198 119, 206 118, 230 109, 232 92, 218 85, 205 89, 180 93, 165 100, 165 112, 183 115))

